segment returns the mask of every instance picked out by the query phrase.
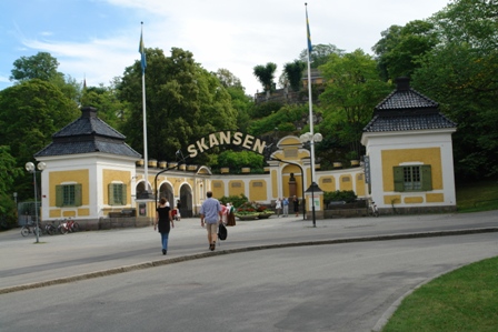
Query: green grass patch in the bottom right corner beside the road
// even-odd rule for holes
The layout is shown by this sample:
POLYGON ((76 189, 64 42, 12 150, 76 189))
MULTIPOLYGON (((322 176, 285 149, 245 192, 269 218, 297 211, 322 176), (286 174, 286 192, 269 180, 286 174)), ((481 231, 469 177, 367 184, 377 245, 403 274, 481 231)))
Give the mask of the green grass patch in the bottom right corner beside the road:
POLYGON ((498 258, 441 275, 406 298, 382 332, 498 331, 498 258))

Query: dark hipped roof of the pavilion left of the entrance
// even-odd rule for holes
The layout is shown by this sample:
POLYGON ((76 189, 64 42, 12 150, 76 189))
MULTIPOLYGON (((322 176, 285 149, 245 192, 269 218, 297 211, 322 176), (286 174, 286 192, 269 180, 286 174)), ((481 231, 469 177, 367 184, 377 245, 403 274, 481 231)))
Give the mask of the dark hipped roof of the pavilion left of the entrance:
POLYGON ((140 153, 124 143, 126 137, 97 118, 94 108, 82 108, 81 117, 52 135, 52 143, 34 157, 77 153, 111 153, 140 159, 140 153))

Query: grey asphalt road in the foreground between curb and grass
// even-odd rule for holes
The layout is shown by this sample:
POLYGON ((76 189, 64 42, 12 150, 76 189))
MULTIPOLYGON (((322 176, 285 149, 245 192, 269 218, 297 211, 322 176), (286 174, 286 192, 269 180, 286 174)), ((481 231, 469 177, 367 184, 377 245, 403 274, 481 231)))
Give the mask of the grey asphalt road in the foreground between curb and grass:
POLYGON ((496 235, 238 252, 0 294, 0 330, 367 332, 419 284, 497 255, 496 235))

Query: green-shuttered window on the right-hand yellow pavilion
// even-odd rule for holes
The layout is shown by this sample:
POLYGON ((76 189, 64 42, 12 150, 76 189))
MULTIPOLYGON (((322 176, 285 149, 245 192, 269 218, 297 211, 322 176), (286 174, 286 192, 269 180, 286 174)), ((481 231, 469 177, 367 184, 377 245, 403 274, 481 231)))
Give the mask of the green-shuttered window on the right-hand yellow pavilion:
POLYGON ((432 190, 430 164, 395 167, 395 191, 432 190))

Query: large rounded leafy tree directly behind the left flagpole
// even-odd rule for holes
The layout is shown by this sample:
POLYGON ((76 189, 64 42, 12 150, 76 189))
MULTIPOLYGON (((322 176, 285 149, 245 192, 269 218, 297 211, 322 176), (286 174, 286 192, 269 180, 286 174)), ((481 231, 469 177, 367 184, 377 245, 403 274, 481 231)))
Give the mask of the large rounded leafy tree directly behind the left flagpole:
MULTIPOLYGON (((146 49, 147 133, 150 158, 173 160, 176 151, 218 129, 236 129, 237 112, 219 79, 198 64, 191 52, 173 48, 171 57, 146 49)), ((124 70, 118 95, 127 103, 122 133, 143 152, 143 118, 140 62, 124 70)), ((202 159, 203 158, 203 159, 202 159)), ((209 154, 199 154, 208 163, 209 154)))

